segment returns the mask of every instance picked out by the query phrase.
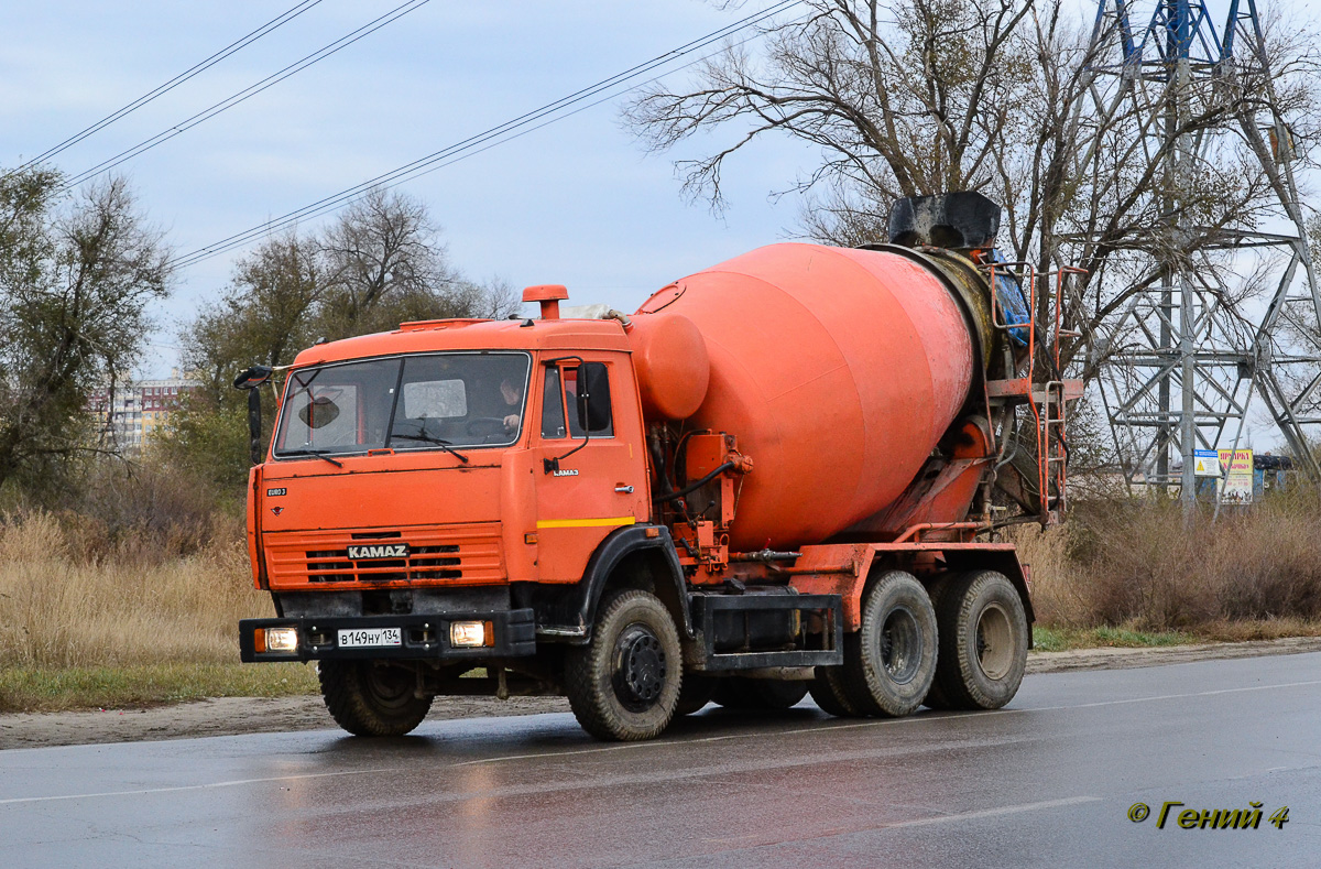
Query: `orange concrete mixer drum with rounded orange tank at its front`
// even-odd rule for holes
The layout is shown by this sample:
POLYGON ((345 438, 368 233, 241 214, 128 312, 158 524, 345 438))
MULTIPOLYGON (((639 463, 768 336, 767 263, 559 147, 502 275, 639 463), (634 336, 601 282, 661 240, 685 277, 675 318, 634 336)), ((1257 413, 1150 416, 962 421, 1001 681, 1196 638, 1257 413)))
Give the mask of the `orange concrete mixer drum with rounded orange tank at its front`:
POLYGON ((984 322, 950 268, 897 248, 771 244, 638 309, 645 413, 734 434, 754 462, 734 551, 819 543, 913 481, 984 362, 984 322))

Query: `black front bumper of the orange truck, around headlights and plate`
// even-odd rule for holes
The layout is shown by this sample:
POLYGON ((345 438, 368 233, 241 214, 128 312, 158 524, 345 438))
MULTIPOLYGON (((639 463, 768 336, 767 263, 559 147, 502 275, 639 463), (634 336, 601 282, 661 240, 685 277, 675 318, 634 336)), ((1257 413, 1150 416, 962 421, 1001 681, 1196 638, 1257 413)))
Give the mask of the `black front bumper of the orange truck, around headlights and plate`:
POLYGON ((482 660, 517 658, 536 651, 536 621, 531 609, 485 613, 445 613, 444 615, 332 615, 326 618, 244 618, 239 622, 239 659, 244 663, 268 660, 349 660, 349 659, 429 659, 482 660), (480 621, 491 625, 487 646, 456 647, 449 639, 452 622, 480 621), (259 652, 256 629, 296 627, 295 651, 259 652), (399 646, 339 647, 341 630, 400 629, 399 646))

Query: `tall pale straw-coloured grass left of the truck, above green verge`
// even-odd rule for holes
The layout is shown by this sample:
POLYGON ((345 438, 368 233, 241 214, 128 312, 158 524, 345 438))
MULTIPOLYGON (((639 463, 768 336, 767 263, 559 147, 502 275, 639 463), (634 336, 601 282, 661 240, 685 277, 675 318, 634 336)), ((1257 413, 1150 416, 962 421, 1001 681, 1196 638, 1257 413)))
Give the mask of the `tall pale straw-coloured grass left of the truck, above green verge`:
POLYGON ((79 543, 49 512, 3 518, 0 666, 234 662, 238 619, 273 614, 235 543, 165 559, 143 540, 95 557, 79 543))

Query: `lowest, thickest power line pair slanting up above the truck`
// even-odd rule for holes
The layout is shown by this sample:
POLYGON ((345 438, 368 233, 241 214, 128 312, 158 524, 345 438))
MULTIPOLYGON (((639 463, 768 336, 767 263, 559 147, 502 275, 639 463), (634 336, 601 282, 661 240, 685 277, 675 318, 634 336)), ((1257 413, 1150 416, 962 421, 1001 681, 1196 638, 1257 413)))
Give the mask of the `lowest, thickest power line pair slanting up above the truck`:
MULTIPOLYGON (((530 132, 540 129, 542 127, 544 127, 547 124, 555 123, 557 120, 563 120, 565 118, 576 115, 580 111, 585 111, 588 108, 592 108, 593 106, 598 106, 600 103, 606 102, 608 99, 613 99, 618 94, 626 92, 629 90, 635 90, 637 87, 641 87, 642 85, 646 85, 650 81, 655 81, 655 78, 649 79, 649 82, 639 82, 639 83, 630 85, 629 87, 626 87, 626 88, 624 88, 621 91, 612 92, 612 94, 608 94, 605 96, 601 96, 602 92, 609 91, 612 88, 616 88, 620 85, 625 85, 627 82, 631 82, 633 79, 637 79, 637 78, 639 78, 639 77, 642 77, 642 75, 645 75, 647 73, 651 73, 651 71, 662 67, 662 66, 672 63, 674 61, 676 61, 676 59, 679 59, 682 57, 692 54, 694 52, 697 52, 697 50, 700 50, 700 49, 711 45, 712 42, 716 42, 719 40, 724 40, 727 37, 731 37, 731 36, 733 36, 733 34, 736 34, 736 33, 738 33, 741 30, 745 30, 745 29, 748 29, 748 28, 750 28, 750 26, 753 26, 756 24, 760 24, 761 21, 764 21, 764 20, 771 17, 771 16, 779 15, 781 12, 785 12, 786 9, 790 9, 790 8, 795 7, 795 5, 799 5, 801 3, 803 3, 803 0, 781 0, 779 3, 774 3, 770 7, 768 7, 766 9, 762 9, 761 12, 756 12, 753 15, 749 15, 749 16, 744 17, 744 18, 740 18, 738 21, 728 24, 728 25, 725 25, 725 26, 723 26, 723 28, 720 28, 717 30, 713 30, 713 32, 711 32, 711 33, 708 33, 708 34, 705 34, 703 37, 699 37, 699 38, 696 38, 696 40, 694 40, 691 42, 687 42, 687 44, 684 44, 684 45, 682 45, 682 46, 679 46, 676 49, 672 49, 670 52, 666 52, 664 54, 654 57, 650 61, 646 61, 643 63, 638 63, 637 66, 633 66, 633 67, 630 67, 627 70, 624 70, 622 73, 617 73, 616 75, 612 75, 612 77, 609 77, 606 79, 602 79, 602 81, 597 82, 596 85, 590 85, 588 87, 584 87, 584 88, 581 88, 579 91, 575 91, 573 94, 569 94, 568 96, 557 99, 557 100, 555 100, 552 103, 547 103, 546 106, 542 106, 540 108, 535 108, 535 110, 532 110, 530 112, 519 115, 518 118, 514 118, 513 120, 507 120, 503 124, 499 124, 497 127, 491 127, 490 129, 486 129, 486 131, 483 131, 481 133, 477 133, 474 136, 469 136, 468 139, 464 139, 464 140, 457 141, 457 143, 454 143, 452 145, 448 145, 448 147, 445 147, 445 148, 443 148, 440 151, 436 151, 436 152, 433 152, 431 155, 427 155, 425 157, 420 157, 417 160, 413 160, 412 162, 407 162, 407 164, 404 164, 404 165, 402 165, 402 166, 399 166, 396 169, 392 169, 390 172, 379 174, 379 176, 376 176, 374 178, 369 178, 367 181, 363 181, 363 182, 357 184, 357 185, 354 185, 351 188, 341 190, 339 193, 334 193, 334 194, 328 195, 325 198, 317 199, 316 202, 312 202, 310 205, 306 205, 306 206, 304 206, 301 209, 297 209, 295 211, 289 211, 288 214, 284 214, 284 215, 281 215, 279 218, 273 218, 273 219, 266 221, 266 222, 259 223, 259 225, 256 225, 256 226, 254 226, 254 227, 251 227, 248 230, 244 230, 242 232, 236 232, 236 234, 230 235, 227 238, 223 238, 223 239, 221 239, 218 242, 214 242, 214 243, 207 244, 205 247, 201 247, 201 248, 197 248, 194 251, 190 251, 190 252, 182 255, 181 258, 178 258, 174 261, 174 264, 178 268, 188 268, 190 265, 196 265, 197 263, 201 263, 202 260, 211 259, 213 256, 219 256, 221 254, 226 254, 226 252, 232 251, 235 248, 243 247, 243 246, 246 246, 246 244, 256 240, 262 235, 266 235, 266 234, 281 230, 281 228, 284 228, 287 226, 297 223, 299 221, 313 218, 313 217, 320 217, 320 215, 326 214, 329 211, 334 211, 337 209, 341 209, 341 207, 349 205, 355 198, 361 197, 363 193, 366 193, 367 190, 370 190, 373 188, 382 188, 383 186, 383 188, 388 189, 388 188, 398 186, 399 184, 403 184, 406 181, 411 181, 413 178, 421 177, 424 174, 435 172, 436 169, 441 169, 444 166, 452 165, 453 162, 457 162, 458 160, 464 160, 466 157, 476 156, 476 155, 478 155, 478 153, 481 153, 483 151, 487 151, 489 148, 494 148, 498 144, 503 144, 506 141, 511 141, 514 139, 518 139, 519 136, 524 136, 524 135, 527 135, 530 132), (573 110, 571 112, 565 112, 564 111, 564 110, 569 108, 571 106, 575 106, 575 104, 581 103, 584 100, 589 100, 592 98, 598 98, 598 99, 596 99, 594 102, 588 103, 587 106, 580 106, 579 108, 576 108, 576 110, 573 110), (536 123, 536 122, 542 122, 542 123, 536 123), (536 125, 530 127, 530 124, 536 124, 536 125)), ((699 58, 691 61, 690 63, 686 63, 683 66, 679 66, 679 67, 675 67, 672 70, 668 70, 664 74, 674 73, 678 69, 684 69, 684 67, 691 66, 692 63, 697 63, 697 62, 700 62, 703 59, 705 59, 705 58, 704 57, 699 57, 699 58)), ((657 78, 659 78, 659 77, 657 77, 657 78)))

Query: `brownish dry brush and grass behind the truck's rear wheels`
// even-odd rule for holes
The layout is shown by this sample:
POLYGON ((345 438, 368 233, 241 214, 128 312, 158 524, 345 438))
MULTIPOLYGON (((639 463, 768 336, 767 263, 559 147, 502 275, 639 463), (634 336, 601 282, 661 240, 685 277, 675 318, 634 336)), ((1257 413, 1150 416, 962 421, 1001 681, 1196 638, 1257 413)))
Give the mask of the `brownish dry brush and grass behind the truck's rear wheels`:
POLYGON ((1177 503, 1092 502, 1013 535, 1038 621, 1244 641, 1321 634, 1321 506, 1272 497, 1211 524, 1177 503))

